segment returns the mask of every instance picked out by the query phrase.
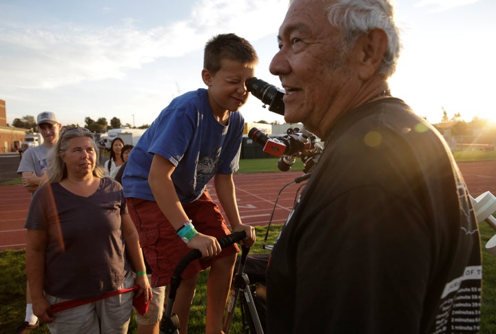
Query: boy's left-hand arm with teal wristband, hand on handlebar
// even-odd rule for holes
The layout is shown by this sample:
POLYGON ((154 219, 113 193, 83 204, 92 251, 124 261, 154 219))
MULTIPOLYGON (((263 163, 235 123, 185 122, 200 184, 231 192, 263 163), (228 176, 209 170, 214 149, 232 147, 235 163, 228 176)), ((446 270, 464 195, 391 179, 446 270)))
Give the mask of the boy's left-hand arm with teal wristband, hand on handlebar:
MULTIPOLYGON (((172 182, 171 176, 174 169, 176 167, 169 160, 155 154, 148 174, 148 183, 158 207, 174 227, 174 230, 177 231, 189 218, 176 194, 174 182, 172 182)), ((187 247, 198 249, 203 257, 215 256, 222 251, 216 238, 202 233, 196 234, 189 240, 187 247)))

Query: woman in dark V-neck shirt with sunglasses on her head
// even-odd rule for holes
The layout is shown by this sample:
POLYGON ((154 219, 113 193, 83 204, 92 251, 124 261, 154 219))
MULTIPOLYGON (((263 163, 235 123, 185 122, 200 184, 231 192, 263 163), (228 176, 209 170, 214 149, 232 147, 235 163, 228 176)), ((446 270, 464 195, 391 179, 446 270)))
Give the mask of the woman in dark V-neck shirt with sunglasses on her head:
POLYGON ((122 187, 103 177, 97 152, 90 131, 65 129, 25 223, 34 314, 52 333, 127 333, 133 293, 102 297, 134 284, 145 302, 152 294, 122 187), (50 314, 52 304, 88 298, 102 299, 50 314))

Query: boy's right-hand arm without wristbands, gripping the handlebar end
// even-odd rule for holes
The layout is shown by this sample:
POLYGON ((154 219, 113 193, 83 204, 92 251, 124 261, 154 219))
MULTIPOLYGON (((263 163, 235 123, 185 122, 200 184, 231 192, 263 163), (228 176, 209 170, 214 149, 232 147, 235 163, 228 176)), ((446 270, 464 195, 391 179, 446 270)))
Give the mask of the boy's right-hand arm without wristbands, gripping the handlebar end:
POLYGON ((255 229, 241 222, 232 174, 216 174, 214 185, 220 205, 224 209, 231 229, 233 231, 245 231, 247 237, 242 240, 242 244, 246 247, 251 247, 255 243, 255 229))

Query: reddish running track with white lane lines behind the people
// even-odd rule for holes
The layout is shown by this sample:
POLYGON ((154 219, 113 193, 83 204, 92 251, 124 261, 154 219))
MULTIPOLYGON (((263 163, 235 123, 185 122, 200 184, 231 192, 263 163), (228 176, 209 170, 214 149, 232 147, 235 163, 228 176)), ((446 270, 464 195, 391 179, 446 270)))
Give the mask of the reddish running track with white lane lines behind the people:
MULTIPOLYGON (((496 195, 496 161, 460 163, 459 169, 474 198, 485 191, 496 195)), ((234 182, 242 221, 249 225, 267 225, 273 213, 273 224, 285 222, 300 184, 282 187, 301 175, 300 171, 236 174, 234 182)), ((209 189, 216 200, 214 187, 209 189)), ((0 250, 25 248, 23 226, 29 202, 30 194, 21 185, 0 186, 0 250)))

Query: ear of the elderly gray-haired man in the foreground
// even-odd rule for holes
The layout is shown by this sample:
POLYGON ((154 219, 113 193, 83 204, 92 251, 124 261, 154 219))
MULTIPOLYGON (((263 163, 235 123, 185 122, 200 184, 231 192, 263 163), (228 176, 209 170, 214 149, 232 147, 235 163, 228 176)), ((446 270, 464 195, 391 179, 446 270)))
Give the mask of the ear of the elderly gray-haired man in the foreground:
POLYGON ((358 75, 362 80, 371 78, 378 72, 388 46, 386 32, 374 29, 361 36, 355 47, 358 48, 358 75))

